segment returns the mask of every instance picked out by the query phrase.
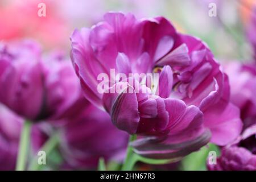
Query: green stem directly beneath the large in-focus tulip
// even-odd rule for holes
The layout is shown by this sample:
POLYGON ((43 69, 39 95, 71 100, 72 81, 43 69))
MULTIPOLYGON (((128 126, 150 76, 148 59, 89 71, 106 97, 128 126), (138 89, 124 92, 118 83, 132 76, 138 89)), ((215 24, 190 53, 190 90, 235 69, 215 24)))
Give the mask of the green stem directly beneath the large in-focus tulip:
POLYGON ((132 170, 135 163, 137 162, 134 157, 133 147, 130 146, 130 142, 132 142, 135 139, 136 139, 136 135, 130 136, 130 140, 129 140, 129 144, 128 144, 127 152, 126 152, 125 162, 123 163, 123 166, 122 166, 122 171, 132 170))

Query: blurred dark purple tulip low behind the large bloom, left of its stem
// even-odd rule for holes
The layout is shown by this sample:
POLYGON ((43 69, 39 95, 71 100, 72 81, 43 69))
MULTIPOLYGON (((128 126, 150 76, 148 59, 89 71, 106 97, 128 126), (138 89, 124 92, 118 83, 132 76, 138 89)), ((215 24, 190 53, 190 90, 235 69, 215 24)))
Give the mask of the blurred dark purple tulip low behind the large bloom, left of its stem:
POLYGON ((108 113, 88 104, 72 122, 61 129, 61 148, 66 168, 92 169, 98 159, 121 162, 129 135, 116 129, 108 113))

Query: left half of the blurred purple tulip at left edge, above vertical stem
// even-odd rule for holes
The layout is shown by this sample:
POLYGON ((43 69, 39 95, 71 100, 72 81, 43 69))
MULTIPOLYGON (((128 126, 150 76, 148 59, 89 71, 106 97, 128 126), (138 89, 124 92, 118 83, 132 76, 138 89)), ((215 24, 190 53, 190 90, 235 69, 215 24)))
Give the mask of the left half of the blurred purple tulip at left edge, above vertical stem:
POLYGON ((2 44, 0 54, 0 101, 26 118, 38 118, 44 97, 38 44, 2 44))

